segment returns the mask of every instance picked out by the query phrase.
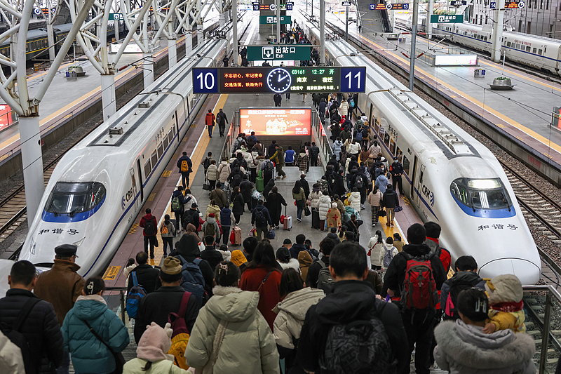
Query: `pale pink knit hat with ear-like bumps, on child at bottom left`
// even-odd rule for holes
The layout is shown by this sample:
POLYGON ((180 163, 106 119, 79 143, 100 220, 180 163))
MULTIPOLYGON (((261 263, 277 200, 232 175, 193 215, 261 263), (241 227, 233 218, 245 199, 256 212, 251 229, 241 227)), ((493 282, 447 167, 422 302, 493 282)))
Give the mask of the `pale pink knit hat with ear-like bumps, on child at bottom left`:
POLYGON ((168 359, 167 353, 171 348, 172 333, 173 330, 169 322, 165 323, 164 328, 158 326, 156 322, 146 326, 146 331, 138 342, 137 357, 150 362, 168 359))

